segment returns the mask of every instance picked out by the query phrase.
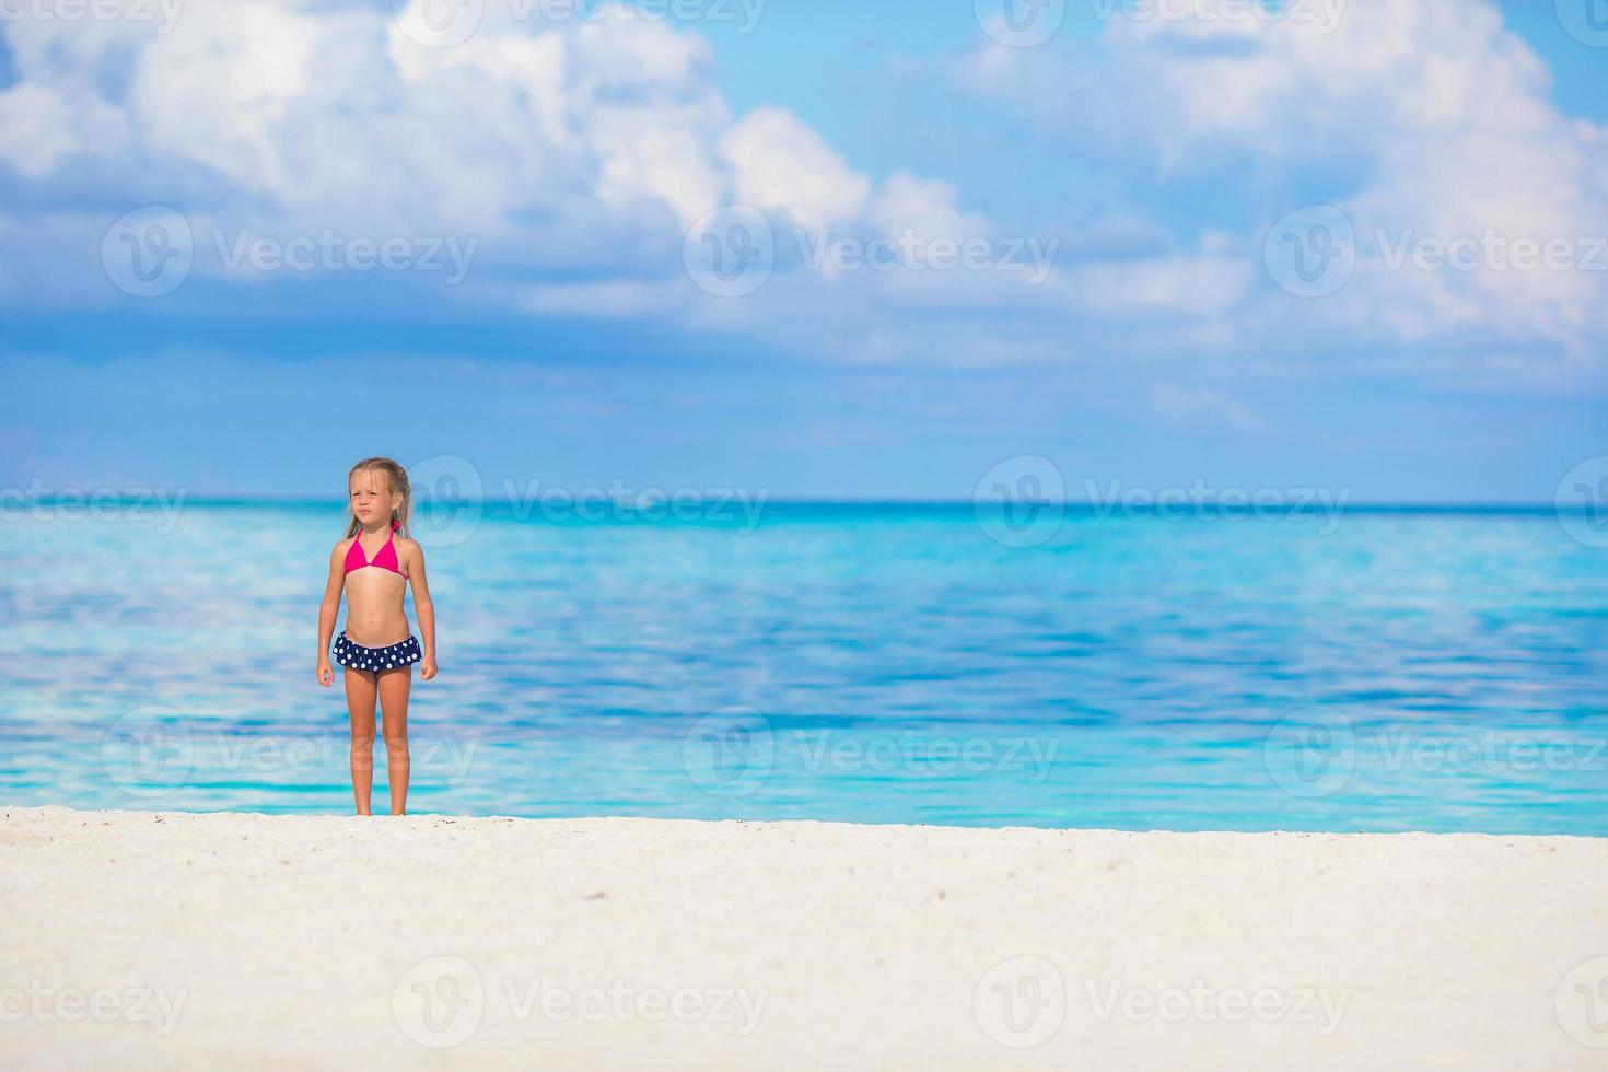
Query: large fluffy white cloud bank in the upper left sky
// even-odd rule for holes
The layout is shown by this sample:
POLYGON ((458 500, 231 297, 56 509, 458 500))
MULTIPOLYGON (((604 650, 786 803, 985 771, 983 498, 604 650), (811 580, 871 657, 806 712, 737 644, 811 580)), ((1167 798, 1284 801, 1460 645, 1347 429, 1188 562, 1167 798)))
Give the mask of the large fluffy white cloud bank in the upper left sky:
MULTIPOLYGON (((708 40, 627 8, 561 18, 489 0, 458 8, 478 21, 452 40, 421 0, 396 16, 330 0, 137 16, 159 10, 0 23, 16 72, 0 90, 0 180, 35 203, 51 190, 93 203, 76 214, 55 198, 8 228, 8 260, 64 241, 82 264, 117 215, 108 206, 174 204, 198 233, 196 273, 215 233, 457 236, 478 243, 505 309, 666 315, 677 296, 711 301, 682 246, 722 204, 757 206, 790 239, 863 233, 873 206, 907 199, 904 177, 878 190, 783 108, 733 114, 708 40)), ((925 198, 928 217, 965 219, 954 188, 925 198)), ((53 297, 85 297, 71 291, 53 297)))

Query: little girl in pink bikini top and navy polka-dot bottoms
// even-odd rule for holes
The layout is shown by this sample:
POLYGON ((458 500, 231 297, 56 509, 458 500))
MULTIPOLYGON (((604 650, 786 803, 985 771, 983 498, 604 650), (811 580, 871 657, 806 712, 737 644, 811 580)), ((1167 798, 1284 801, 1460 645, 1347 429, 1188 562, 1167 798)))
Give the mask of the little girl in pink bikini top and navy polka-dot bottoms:
POLYGON ((412 489, 391 458, 363 458, 346 476, 352 524, 330 553, 330 583, 318 604, 318 685, 334 683, 330 633, 346 590, 346 628, 334 638, 334 661, 346 667, 346 707, 352 715, 352 794, 357 813, 371 815, 375 784, 375 693, 384 714, 391 815, 407 807, 407 696, 413 664, 423 681, 436 677, 436 608, 425 583, 425 553, 407 538, 412 489), (400 534, 402 538, 397 538, 400 534), (425 646, 408 632, 402 598, 413 585, 413 609, 425 646), (399 640, 405 636, 407 640, 399 640))

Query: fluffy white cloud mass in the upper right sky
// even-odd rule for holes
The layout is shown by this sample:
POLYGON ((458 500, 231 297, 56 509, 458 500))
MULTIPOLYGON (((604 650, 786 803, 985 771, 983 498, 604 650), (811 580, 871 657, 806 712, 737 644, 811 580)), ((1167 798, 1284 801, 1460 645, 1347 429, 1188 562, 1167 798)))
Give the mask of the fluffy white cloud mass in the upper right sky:
MULTIPOLYGON (((1092 43, 989 42, 955 74, 1079 153, 1148 166, 1174 188, 1240 177, 1259 211, 1229 243, 1237 272, 1304 297, 1267 288, 1227 346, 1306 344, 1322 326, 1330 349, 1494 341, 1503 362, 1529 347, 1534 365, 1550 355, 1558 368, 1600 355, 1608 132, 1558 111, 1550 71, 1491 3, 1367 0, 1325 8, 1333 18, 1299 6, 1314 18, 1222 18, 1211 0, 1175 18, 1114 5, 1092 43), (1069 98, 1084 106, 1063 108, 1069 98), (1317 203, 1344 215, 1301 212, 1317 203), (1294 231, 1272 233, 1267 254, 1286 212, 1294 231), (1349 278, 1285 278, 1280 252, 1302 244, 1314 273, 1325 248, 1352 251, 1349 278)), ((1119 302, 1201 299, 1179 270, 1092 283, 1119 302)))

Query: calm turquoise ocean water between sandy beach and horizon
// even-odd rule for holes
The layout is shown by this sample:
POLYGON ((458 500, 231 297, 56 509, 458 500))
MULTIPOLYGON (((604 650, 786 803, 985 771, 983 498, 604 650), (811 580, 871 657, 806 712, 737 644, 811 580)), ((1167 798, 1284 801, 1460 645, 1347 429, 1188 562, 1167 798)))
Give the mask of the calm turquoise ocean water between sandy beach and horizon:
MULTIPOLYGON (((95 513, 0 519, 0 800, 349 810, 339 505, 95 513)), ((1608 834, 1608 550, 1552 511, 537 514, 420 526, 413 810, 1608 834)))

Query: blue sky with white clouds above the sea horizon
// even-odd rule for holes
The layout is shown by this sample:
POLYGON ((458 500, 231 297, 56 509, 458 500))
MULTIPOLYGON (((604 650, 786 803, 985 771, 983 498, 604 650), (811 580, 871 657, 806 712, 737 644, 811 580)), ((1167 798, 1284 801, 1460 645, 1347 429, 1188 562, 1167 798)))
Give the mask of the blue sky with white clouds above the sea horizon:
POLYGON ((0 485, 1550 501, 1608 453, 1597 0, 474 2, 6 6, 0 485))

